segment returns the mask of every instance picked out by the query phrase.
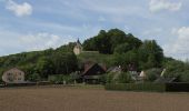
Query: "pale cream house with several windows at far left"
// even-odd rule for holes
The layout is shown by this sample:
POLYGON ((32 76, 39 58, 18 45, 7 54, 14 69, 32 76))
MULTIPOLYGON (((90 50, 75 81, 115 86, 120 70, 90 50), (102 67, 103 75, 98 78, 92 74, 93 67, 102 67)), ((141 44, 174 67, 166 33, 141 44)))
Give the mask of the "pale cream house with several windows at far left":
POLYGON ((13 68, 2 74, 2 80, 6 83, 23 83, 24 82, 24 72, 13 68))

